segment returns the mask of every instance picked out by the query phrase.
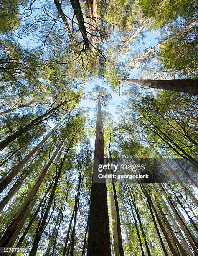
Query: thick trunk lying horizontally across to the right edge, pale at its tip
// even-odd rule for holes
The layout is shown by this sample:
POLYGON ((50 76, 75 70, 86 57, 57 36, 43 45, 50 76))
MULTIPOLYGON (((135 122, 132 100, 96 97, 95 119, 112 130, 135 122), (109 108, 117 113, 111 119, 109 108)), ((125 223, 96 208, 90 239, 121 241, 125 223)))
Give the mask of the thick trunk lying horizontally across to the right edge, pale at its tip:
POLYGON ((173 79, 173 80, 148 80, 148 79, 122 79, 122 82, 175 92, 184 92, 198 95, 198 80, 196 79, 173 79))

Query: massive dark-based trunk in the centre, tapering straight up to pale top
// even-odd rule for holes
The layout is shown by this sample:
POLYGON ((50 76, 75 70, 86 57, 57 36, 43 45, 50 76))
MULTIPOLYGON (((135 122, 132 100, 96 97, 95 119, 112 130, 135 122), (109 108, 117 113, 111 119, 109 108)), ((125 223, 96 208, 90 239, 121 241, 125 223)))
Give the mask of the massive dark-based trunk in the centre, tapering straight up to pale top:
MULTIPOLYGON (((104 164, 104 138, 102 134, 100 95, 98 97, 93 174, 97 174, 99 164, 104 164)), ((94 183, 94 175, 92 176, 91 185, 90 218, 87 246, 87 256, 93 255, 111 256, 109 217, 107 207, 107 186, 106 183, 94 183)))

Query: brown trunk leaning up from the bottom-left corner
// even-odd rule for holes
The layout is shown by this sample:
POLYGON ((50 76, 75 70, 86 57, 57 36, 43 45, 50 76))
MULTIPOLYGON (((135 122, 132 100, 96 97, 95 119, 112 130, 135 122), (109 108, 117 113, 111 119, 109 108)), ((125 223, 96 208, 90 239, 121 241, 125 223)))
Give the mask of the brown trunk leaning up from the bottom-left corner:
POLYGON ((43 171, 38 178, 36 184, 34 185, 33 189, 30 191, 28 197, 26 198, 23 205, 20 207, 20 210, 15 215, 15 218, 13 218, 12 222, 6 229, 5 233, 3 234, 3 237, 0 241, 1 247, 12 247, 15 243, 15 239, 17 238, 16 234, 18 235, 20 233, 21 228, 21 221, 23 220, 23 216, 27 212, 30 203, 34 199, 39 187, 41 186, 41 183, 43 182, 44 177, 46 176, 46 173, 48 172, 49 167, 52 164, 52 161, 55 159, 56 155, 58 154, 58 151, 61 148, 62 143, 56 148, 56 151, 54 152, 53 156, 51 157, 50 161, 46 164, 46 166, 43 168, 43 171), (20 228, 18 228, 20 227, 20 228))

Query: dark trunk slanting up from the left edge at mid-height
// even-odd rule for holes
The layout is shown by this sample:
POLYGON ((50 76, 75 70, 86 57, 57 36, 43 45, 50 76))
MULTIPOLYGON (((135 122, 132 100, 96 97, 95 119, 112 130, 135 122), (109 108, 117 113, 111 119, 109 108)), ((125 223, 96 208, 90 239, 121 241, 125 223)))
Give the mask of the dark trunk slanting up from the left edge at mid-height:
POLYGON ((54 111, 58 110, 61 106, 65 105, 66 101, 63 101, 61 104, 57 105, 56 107, 52 108, 51 110, 46 111, 43 115, 38 116, 34 120, 32 120, 28 125, 23 128, 20 128, 18 131, 13 133, 12 135, 5 138, 3 141, 0 142, 0 151, 2 151, 5 147, 8 146, 9 143, 15 141, 18 137, 23 135, 25 132, 31 130, 34 126, 41 124, 44 120, 49 118, 50 114, 54 111))

